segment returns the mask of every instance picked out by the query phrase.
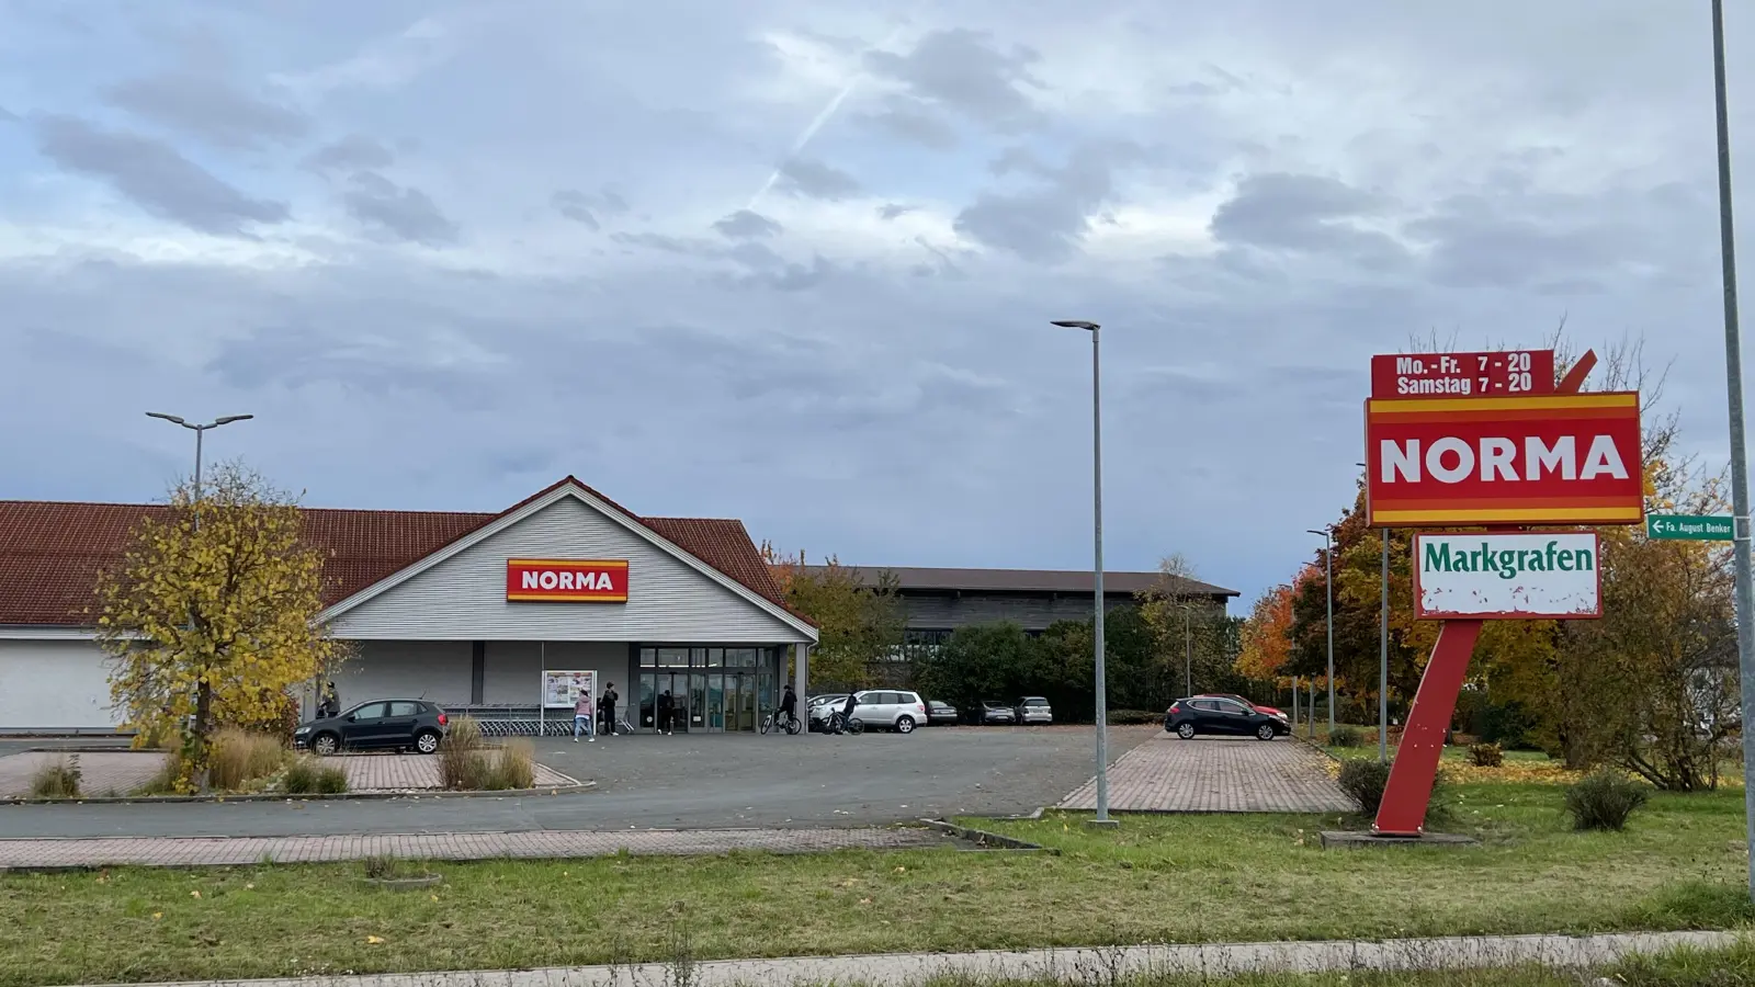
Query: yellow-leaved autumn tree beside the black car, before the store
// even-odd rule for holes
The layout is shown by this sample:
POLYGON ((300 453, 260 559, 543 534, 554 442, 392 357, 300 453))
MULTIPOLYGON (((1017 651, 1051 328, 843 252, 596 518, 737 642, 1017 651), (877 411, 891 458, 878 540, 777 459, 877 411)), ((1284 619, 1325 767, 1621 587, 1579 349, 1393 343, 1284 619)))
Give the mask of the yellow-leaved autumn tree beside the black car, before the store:
POLYGON ((279 729, 344 652, 314 618, 323 557, 297 502, 237 464, 177 486, 97 585, 111 697, 140 738, 183 736, 177 789, 205 785, 218 727, 279 729))

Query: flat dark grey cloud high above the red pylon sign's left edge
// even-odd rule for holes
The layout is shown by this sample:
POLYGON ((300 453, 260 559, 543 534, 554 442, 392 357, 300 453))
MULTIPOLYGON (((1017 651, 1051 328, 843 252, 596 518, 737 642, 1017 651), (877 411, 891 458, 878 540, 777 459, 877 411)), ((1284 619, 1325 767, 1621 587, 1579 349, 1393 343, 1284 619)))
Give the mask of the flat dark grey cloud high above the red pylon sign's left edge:
POLYGON ((1406 253, 1400 244, 1351 221, 1383 205, 1381 197, 1332 177, 1257 174, 1237 183, 1237 193, 1213 214, 1211 230, 1225 244, 1395 258, 1406 253))

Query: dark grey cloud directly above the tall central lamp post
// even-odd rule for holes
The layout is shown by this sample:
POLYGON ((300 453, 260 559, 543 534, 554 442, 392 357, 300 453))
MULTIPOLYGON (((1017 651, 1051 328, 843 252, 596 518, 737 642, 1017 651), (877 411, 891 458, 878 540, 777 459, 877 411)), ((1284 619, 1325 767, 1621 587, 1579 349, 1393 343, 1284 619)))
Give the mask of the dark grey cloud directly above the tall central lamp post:
POLYGON ((1081 148, 1065 167, 1051 169, 1028 155, 1007 153, 995 170, 1028 170, 1044 181, 1027 191, 979 195, 956 214, 953 228, 1023 260, 1067 260, 1090 230, 1092 214, 1114 193, 1113 167, 1139 156, 1132 144, 1081 148))

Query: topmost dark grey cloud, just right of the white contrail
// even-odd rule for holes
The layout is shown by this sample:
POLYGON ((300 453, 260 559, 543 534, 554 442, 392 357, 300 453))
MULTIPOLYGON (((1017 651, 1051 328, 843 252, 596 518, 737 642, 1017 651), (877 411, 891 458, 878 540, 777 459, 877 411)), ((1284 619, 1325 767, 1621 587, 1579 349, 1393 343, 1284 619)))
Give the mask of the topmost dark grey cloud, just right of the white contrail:
POLYGON ((1041 121, 1041 111, 1020 88, 1042 88, 1030 74, 1037 61, 1041 54, 1030 47, 999 51, 992 35, 963 28, 932 32, 907 54, 872 51, 865 56, 874 76, 900 83, 918 100, 997 128, 1041 121))

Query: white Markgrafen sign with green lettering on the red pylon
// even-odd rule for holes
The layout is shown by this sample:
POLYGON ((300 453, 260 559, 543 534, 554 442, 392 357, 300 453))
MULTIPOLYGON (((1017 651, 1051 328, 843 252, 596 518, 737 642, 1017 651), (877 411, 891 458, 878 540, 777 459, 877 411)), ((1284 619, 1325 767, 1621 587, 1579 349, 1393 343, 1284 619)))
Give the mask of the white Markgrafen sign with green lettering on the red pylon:
POLYGON ((1601 558, 1595 532, 1418 534, 1415 616, 1602 616, 1601 558))

